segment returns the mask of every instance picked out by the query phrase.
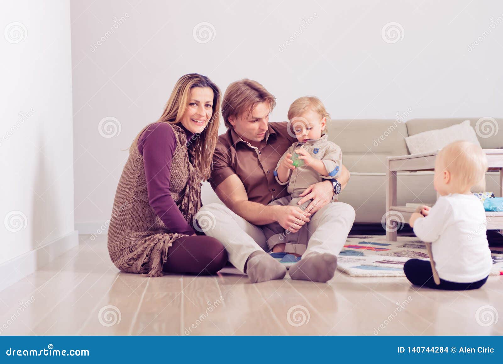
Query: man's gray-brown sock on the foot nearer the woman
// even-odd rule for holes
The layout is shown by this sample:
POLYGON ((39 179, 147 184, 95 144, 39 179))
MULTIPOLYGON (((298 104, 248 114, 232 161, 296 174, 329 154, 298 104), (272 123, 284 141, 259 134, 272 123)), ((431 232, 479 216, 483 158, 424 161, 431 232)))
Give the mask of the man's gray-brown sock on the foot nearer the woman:
POLYGON ((286 268, 265 251, 254 251, 246 262, 246 274, 251 283, 281 280, 286 275, 286 268))

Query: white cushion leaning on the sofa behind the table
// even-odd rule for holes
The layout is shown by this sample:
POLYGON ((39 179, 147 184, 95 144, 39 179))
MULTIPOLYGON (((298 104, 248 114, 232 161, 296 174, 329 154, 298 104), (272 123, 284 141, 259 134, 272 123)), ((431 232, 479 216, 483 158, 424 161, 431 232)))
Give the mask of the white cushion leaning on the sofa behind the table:
POLYGON ((469 120, 444 129, 424 131, 405 138, 410 154, 434 152, 456 140, 466 140, 480 145, 469 120))

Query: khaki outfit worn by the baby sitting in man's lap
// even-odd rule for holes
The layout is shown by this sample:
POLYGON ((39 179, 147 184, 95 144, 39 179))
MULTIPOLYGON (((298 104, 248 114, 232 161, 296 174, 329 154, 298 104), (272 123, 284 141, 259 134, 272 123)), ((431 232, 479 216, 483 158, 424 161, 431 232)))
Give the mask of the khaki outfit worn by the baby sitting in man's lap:
MULTIPOLYGON (((283 154, 276 166, 276 169, 274 170, 274 176, 276 177, 277 182, 280 185, 288 185, 288 193, 290 196, 274 200, 269 205, 297 206, 304 211, 311 200, 306 201, 302 205, 297 205, 299 200, 301 200, 300 194, 309 186, 321 182, 323 179, 335 178, 341 165, 342 150, 337 144, 328 141, 328 136, 326 134, 323 134, 318 139, 310 139, 305 143, 299 141, 294 142, 283 154), (305 149, 314 159, 321 160, 325 169, 328 171, 328 175, 321 175, 313 168, 303 164, 295 170, 291 170, 288 181, 280 181, 278 179, 277 172, 279 165, 283 162, 283 159, 286 158, 288 153, 293 154, 294 151, 299 148, 305 149)), ((312 216, 310 218, 312 218, 312 216)), ((264 235, 266 236, 267 244, 270 249, 277 244, 286 243, 285 252, 287 253, 302 255, 306 251, 309 233, 307 224, 302 226, 296 233, 286 233, 285 229, 277 222, 263 225, 262 230, 264 231, 264 235)))

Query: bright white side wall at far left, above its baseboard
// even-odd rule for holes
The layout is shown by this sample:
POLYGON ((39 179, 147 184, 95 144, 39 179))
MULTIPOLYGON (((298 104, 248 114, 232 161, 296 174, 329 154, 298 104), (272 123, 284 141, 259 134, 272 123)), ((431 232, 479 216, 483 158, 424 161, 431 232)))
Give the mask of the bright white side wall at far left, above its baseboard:
POLYGON ((14 274, 75 237, 69 2, 3 2, 0 28, 0 263, 24 257, 1 266, 14 274))

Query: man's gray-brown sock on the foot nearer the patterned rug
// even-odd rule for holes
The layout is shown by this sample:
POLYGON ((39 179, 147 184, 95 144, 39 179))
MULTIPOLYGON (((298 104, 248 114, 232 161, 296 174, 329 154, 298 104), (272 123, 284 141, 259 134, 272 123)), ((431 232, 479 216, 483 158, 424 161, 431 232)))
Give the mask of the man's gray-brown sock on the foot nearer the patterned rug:
POLYGON ((337 256, 328 253, 310 253, 288 270, 292 280, 326 282, 333 278, 337 256))

